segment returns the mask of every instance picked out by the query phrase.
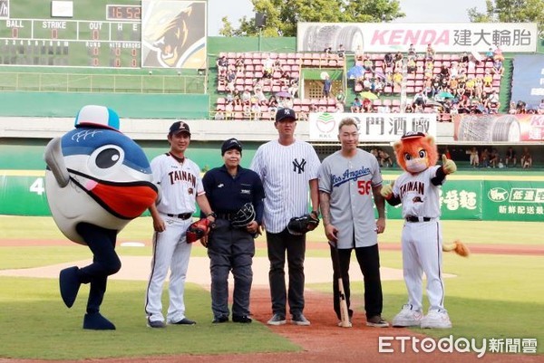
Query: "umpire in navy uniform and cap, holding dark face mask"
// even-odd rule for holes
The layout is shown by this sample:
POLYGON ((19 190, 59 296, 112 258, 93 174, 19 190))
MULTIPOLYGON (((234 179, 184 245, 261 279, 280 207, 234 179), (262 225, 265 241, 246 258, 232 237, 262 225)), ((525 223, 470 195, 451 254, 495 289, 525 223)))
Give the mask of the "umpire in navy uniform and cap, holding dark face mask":
POLYGON ((223 143, 221 156, 225 164, 209 170, 202 178, 209 205, 217 215, 215 228, 202 240, 208 247, 213 322, 228 321, 228 273, 232 271, 232 321, 249 323, 254 236, 260 233, 265 191, 257 173, 240 167, 242 145, 237 139, 223 143), (235 215, 240 209, 245 210, 243 207, 248 203, 253 205, 255 218, 247 224, 233 226, 235 215))

